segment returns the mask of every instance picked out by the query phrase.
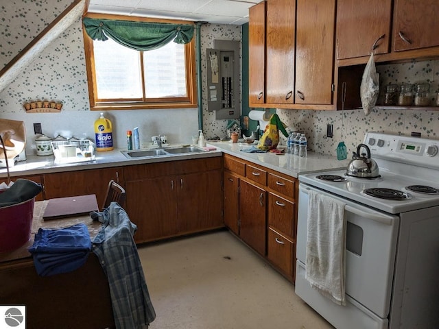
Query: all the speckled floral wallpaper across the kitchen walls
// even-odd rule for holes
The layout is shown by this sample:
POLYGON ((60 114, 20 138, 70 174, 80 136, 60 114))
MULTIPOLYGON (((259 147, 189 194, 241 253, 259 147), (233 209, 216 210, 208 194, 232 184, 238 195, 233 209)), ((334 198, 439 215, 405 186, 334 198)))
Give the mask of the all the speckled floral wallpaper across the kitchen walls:
MULTIPOLYGON (((2 1, 0 67, 10 62, 70 4, 71 0, 2 1)), ((228 120, 216 120, 215 113, 207 109, 205 49, 213 47, 213 40, 241 40, 241 26, 206 24, 201 27, 202 108, 206 138, 226 136, 228 125, 228 120)), ((241 51, 239 55, 241 58, 241 51)), ((385 85, 402 82, 428 82, 431 84, 431 99, 436 100, 436 93, 439 92, 439 60, 377 64, 377 71, 381 86, 379 101, 382 101, 385 85)), ((25 71, 0 92, 0 118, 25 122, 27 140, 30 141, 26 145, 27 152, 34 151, 33 123, 42 123, 43 132, 48 136, 65 132, 78 137, 93 137, 93 122, 99 117, 99 113, 89 109, 86 79, 82 24, 78 20, 51 42, 25 71), (63 103, 62 112, 25 113, 23 103, 36 99, 59 101, 63 103)), ((439 139, 439 107, 438 110, 377 107, 368 116, 361 109, 278 109, 277 113, 292 130, 305 132, 313 151, 334 156, 340 141, 344 141, 349 153, 354 151, 363 141, 366 131, 407 135, 420 132, 423 137, 439 139), (327 124, 333 125, 333 138, 326 136, 327 124)), ((191 136, 198 131, 196 108, 106 111, 105 116, 112 120, 115 127, 113 136, 117 147, 125 147, 126 130, 137 125, 141 132, 141 143, 150 143, 151 136, 156 134, 166 134, 170 143, 191 143, 191 136)))

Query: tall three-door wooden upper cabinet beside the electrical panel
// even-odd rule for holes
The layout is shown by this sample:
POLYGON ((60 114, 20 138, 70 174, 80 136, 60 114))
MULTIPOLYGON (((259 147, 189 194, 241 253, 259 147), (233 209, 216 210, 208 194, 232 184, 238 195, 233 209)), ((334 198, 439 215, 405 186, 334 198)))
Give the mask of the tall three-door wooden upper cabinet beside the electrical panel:
POLYGON ((259 3, 250 9, 249 33, 250 106, 333 109, 335 0, 259 3), (251 55, 261 54, 263 36, 258 33, 263 27, 263 6, 265 97, 260 84, 263 65, 251 55))

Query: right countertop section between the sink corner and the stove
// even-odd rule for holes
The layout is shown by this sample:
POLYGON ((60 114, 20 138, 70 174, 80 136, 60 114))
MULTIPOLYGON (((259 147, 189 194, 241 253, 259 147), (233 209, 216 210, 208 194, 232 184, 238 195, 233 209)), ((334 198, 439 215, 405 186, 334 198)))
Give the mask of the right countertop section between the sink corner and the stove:
POLYGON ((350 161, 349 159, 337 160, 335 156, 327 156, 314 152, 308 152, 306 158, 293 156, 292 154, 277 155, 270 152, 246 153, 241 151, 241 149, 246 149, 250 146, 244 143, 214 142, 209 143, 209 145, 217 147, 217 149, 220 149, 225 154, 237 156, 295 178, 302 173, 343 169, 348 166, 350 161))

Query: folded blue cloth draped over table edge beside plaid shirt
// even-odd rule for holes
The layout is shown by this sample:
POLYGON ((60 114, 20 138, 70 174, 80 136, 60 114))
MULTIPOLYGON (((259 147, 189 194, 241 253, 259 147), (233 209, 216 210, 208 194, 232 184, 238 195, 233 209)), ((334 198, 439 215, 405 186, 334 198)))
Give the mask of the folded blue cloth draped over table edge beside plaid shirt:
POLYGON ((40 228, 29 247, 39 276, 54 276, 82 267, 90 250, 90 234, 84 223, 68 228, 40 228))

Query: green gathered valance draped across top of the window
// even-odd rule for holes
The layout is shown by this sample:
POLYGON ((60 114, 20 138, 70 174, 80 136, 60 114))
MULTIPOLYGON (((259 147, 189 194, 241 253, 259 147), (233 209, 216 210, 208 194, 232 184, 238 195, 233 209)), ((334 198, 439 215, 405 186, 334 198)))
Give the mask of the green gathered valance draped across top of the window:
POLYGON ((112 38, 120 45, 134 50, 153 50, 174 40, 176 43, 191 42, 193 28, 191 24, 148 23, 134 21, 115 21, 110 19, 82 20, 85 30, 93 40, 112 38))

